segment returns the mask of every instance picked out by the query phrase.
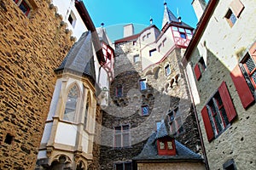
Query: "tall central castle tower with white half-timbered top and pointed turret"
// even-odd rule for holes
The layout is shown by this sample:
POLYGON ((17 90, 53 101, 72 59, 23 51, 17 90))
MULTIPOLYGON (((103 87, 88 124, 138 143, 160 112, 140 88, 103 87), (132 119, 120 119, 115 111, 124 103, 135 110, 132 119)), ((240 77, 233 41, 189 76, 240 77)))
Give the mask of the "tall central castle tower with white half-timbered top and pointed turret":
POLYGON ((150 25, 114 42, 115 77, 102 114, 102 169, 136 166, 133 157, 141 153, 163 120, 175 138, 200 151, 195 115, 179 65, 189 43, 187 31, 192 36, 193 28, 178 20, 166 3, 164 13, 162 31, 150 25))

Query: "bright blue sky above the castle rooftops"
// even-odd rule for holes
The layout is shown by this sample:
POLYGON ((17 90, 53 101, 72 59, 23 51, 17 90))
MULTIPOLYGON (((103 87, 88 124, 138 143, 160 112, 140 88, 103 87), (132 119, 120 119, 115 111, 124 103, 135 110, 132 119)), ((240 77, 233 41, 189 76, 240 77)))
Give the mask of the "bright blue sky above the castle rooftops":
MULTIPOLYGON (((83 0, 91 20, 96 27, 103 22, 112 41, 122 38, 122 26, 133 23, 135 33, 149 26, 150 16, 153 24, 161 29, 164 13, 164 0, 83 0)), ((192 0, 166 0, 172 13, 195 28, 197 19, 192 8, 192 0)))

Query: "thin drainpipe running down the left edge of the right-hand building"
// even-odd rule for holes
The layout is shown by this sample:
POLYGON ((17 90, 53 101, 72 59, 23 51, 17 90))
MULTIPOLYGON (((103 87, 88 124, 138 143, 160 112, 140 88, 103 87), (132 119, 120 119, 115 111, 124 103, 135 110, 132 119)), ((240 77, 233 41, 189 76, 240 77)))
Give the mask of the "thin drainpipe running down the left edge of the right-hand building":
MULTIPOLYGON (((186 62, 187 62, 187 61, 186 61, 186 62)), ((183 65, 183 63, 182 63, 182 65, 183 65)), ((190 87, 190 84, 189 84, 188 74, 187 74, 187 71, 186 71, 185 69, 184 69, 184 73, 185 73, 185 78, 186 78, 187 83, 188 83, 189 94, 190 94, 190 96, 191 96, 192 105, 193 105, 193 110, 194 110, 194 113, 195 113, 195 120, 196 120, 196 125, 197 125, 197 127, 198 127, 199 137, 200 137, 200 141, 201 141, 202 153, 203 153, 203 156, 204 156, 204 158, 205 158, 207 170, 210 170, 210 167, 209 167, 209 164, 208 164, 207 152, 206 152, 204 140, 203 140, 202 135, 201 135, 201 127, 200 127, 200 124, 199 124, 199 121, 198 121, 197 111, 196 111, 196 109, 195 109, 195 101, 194 101, 194 98, 193 98, 193 95, 192 95, 192 91, 191 91, 191 87, 190 87)))

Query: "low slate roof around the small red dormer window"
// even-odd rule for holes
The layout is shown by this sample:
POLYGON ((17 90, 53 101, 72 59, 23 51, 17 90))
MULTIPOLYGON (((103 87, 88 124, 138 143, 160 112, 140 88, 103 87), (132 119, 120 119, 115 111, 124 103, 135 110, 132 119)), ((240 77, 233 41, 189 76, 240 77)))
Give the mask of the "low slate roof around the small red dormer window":
POLYGON ((157 133, 152 133, 144 145, 143 151, 132 158, 134 161, 203 161, 199 154, 189 150, 186 146, 175 140, 176 156, 160 156, 157 152, 157 133))

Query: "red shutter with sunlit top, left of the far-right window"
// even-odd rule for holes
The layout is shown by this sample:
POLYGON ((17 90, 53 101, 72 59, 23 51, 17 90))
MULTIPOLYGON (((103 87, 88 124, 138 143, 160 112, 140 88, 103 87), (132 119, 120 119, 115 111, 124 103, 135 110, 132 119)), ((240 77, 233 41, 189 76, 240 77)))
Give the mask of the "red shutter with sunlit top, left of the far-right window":
POLYGON ((246 109, 251 103, 253 103, 254 98, 245 78, 242 75, 239 65, 236 65, 235 69, 230 72, 230 76, 235 84, 237 94, 241 99, 241 104, 246 109))

